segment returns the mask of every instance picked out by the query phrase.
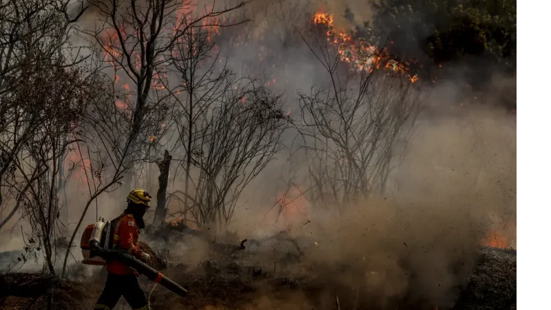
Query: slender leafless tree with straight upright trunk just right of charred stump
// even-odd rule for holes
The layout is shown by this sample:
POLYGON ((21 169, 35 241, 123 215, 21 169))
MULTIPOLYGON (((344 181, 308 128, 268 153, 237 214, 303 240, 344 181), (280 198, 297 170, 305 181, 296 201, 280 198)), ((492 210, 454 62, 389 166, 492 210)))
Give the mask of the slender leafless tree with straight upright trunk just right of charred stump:
MULTIPOLYGON (((180 76, 180 83, 171 89, 176 102, 172 123, 178 133, 174 151, 183 151, 180 161, 185 169, 183 203, 189 206, 189 187, 194 152, 200 148, 205 136, 211 107, 220 101, 229 85, 229 70, 225 67, 210 27, 193 27, 185 30, 171 50, 171 69, 180 76)), ((183 218, 187 220, 187 207, 183 218)))

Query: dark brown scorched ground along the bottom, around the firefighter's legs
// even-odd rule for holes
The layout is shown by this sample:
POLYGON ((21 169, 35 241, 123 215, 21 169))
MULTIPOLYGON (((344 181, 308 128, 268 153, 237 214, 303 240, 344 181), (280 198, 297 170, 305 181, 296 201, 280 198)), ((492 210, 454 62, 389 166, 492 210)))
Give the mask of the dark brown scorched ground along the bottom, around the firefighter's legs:
MULTIPOLYGON (((151 251, 151 249, 148 249, 151 251)), ((152 252, 152 251, 151 251, 152 252)), ((367 296, 339 289, 320 278, 289 276, 273 269, 247 266, 238 261, 209 260, 198 267, 171 265, 154 256, 156 267, 189 290, 180 298, 141 277, 152 309, 374 309, 367 296), (358 296, 360 295, 360 296, 358 296), (338 300, 338 302, 337 302, 338 300)), ((515 250, 485 247, 468 285, 457 290, 453 307, 439 307, 407 296, 392 300, 380 309, 513 310, 517 306, 518 255, 515 250)), ((0 308, 92 309, 103 287, 101 267, 85 280, 60 280, 37 273, 0 275, 0 308), (51 307, 48 306, 51 304, 51 307)), ((129 309, 121 299, 118 310, 129 309)))

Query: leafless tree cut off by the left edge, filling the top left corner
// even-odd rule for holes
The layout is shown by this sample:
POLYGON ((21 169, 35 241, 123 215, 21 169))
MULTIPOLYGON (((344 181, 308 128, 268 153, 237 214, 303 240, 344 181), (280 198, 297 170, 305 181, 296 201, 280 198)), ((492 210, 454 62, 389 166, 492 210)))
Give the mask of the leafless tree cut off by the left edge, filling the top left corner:
MULTIPOLYGON (((0 182, 16 170, 12 163, 43 125, 43 116, 35 110, 34 103, 21 101, 17 95, 21 84, 24 87, 28 82, 24 74, 29 74, 34 67, 43 68, 45 59, 57 66, 76 65, 83 60, 78 51, 72 59, 63 55, 67 52, 67 36, 72 25, 85 10, 82 6, 73 10, 75 8, 71 6, 74 14, 69 14, 68 1, 53 0, 4 1, 0 5, 0 113, 4 116, 0 121, 0 182)), ((19 195, 9 186, 1 189, 19 195)), ((13 198, 15 205, 1 220, 0 227, 6 225, 21 206, 21 199, 13 198)))

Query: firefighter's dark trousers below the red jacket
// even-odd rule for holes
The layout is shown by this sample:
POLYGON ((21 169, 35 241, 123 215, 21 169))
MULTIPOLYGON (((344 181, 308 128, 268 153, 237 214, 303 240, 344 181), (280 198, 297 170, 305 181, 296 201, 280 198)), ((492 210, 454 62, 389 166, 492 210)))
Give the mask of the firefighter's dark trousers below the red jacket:
POLYGON ((94 310, 111 310, 121 296, 125 298, 132 309, 149 309, 145 293, 140 287, 138 277, 135 275, 120 276, 114 273, 107 273, 107 281, 101 296, 94 310))

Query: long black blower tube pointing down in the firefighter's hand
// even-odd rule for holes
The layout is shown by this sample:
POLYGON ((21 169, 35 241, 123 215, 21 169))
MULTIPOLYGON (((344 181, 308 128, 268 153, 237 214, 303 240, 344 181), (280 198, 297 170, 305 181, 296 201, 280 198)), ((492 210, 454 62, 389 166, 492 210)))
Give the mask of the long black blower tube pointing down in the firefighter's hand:
POLYGON ((97 242, 96 240, 90 241, 90 249, 94 252, 95 255, 100 256, 105 260, 116 260, 118 262, 122 262, 128 267, 136 269, 136 271, 149 278, 149 280, 163 285, 163 287, 166 287, 170 291, 177 293, 179 296, 187 296, 186 289, 180 287, 180 285, 178 285, 173 280, 170 280, 166 276, 163 276, 163 273, 160 273, 152 267, 149 267, 149 265, 145 264, 145 262, 138 260, 138 258, 133 256, 132 254, 129 254, 127 251, 103 249, 99 246, 99 242, 97 242))

